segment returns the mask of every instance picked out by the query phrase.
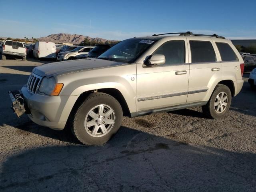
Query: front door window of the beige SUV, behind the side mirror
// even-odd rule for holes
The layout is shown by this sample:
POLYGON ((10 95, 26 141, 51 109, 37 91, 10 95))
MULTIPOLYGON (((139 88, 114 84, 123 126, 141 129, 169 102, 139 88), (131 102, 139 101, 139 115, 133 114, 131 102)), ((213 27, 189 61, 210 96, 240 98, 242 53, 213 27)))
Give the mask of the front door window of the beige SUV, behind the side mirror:
POLYGON ((160 54, 165 56, 164 65, 184 64, 185 63, 185 42, 183 40, 173 40, 162 44, 153 55, 160 54))

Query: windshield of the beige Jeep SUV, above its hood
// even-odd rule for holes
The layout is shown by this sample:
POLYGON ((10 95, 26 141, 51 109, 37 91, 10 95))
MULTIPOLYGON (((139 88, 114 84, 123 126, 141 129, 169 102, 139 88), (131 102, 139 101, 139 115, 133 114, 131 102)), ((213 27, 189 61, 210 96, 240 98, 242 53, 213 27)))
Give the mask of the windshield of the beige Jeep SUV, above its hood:
POLYGON ((138 38, 127 39, 116 44, 98 58, 132 63, 155 42, 156 41, 138 38))

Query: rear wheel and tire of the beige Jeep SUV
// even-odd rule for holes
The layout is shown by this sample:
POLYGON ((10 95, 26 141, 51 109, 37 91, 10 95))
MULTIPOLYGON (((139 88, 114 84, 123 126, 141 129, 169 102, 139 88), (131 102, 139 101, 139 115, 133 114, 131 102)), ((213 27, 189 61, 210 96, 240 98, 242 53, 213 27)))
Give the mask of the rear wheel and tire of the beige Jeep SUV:
POLYGON ((203 113, 208 118, 213 118, 213 119, 223 118, 227 114, 230 108, 231 100, 232 100, 232 95, 228 86, 217 84, 214 91, 212 92, 212 96, 210 97, 210 100, 207 102, 206 105, 202 106, 203 113), (222 93, 224 93, 223 96, 222 96, 222 93), (220 99, 218 99, 217 96, 219 96, 220 99), (221 96, 223 97, 223 99, 221 99, 221 96), (227 99, 225 99, 226 96, 227 96, 227 99), (218 105, 215 106, 216 104, 218 105), (226 104, 226 106, 224 104, 226 104))

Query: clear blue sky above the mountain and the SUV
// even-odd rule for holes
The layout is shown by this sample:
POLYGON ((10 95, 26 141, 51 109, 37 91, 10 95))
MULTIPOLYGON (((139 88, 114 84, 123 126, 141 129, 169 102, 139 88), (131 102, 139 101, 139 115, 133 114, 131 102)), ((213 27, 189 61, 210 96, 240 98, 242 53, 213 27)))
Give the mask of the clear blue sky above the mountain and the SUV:
POLYGON ((256 0, 0 0, 0 10, 0 36, 12 38, 69 33, 124 40, 189 30, 256 39, 256 0))

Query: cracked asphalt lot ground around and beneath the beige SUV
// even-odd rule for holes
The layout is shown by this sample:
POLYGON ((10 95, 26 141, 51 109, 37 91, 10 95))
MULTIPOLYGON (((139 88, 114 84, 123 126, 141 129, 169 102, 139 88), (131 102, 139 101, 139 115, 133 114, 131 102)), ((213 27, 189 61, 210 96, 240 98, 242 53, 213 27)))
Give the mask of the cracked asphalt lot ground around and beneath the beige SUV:
POLYGON ((228 115, 201 108, 123 118, 102 146, 38 126, 10 110, 36 60, 0 60, 0 191, 256 191, 256 90, 244 86, 228 115))

